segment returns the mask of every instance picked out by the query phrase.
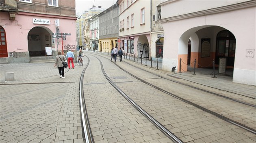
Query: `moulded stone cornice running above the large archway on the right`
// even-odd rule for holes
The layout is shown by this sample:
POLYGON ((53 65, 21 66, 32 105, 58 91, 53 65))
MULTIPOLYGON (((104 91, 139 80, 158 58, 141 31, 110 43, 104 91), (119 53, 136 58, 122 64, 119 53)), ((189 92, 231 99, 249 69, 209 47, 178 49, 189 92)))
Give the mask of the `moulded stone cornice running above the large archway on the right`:
MULTIPOLYGON (((173 1, 175 1, 175 0, 173 0, 173 1)), ((165 3, 162 3, 162 4, 165 5, 165 3)), ((188 13, 188 14, 185 14, 185 15, 179 15, 179 16, 159 19, 158 22, 166 23, 166 22, 178 21, 178 20, 189 19, 189 18, 194 18, 194 17, 201 17, 201 16, 213 15, 213 14, 218 14, 218 13, 226 13, 226 12, 229 12, 229 11, 236 11, 236 10, 239 10, 239 9, 251 8, 251 7, 255 7, 255 6, 256 6, 256 0, 252 0, 252 1, 248 1, 248 2, 232 4, 232 5, 228 5, 228 6, 212 8, 212 9, 208 9, 208 10, 205 10, 205 11, 198 11, 198 12, 195 12, 195 13, 188 13)))

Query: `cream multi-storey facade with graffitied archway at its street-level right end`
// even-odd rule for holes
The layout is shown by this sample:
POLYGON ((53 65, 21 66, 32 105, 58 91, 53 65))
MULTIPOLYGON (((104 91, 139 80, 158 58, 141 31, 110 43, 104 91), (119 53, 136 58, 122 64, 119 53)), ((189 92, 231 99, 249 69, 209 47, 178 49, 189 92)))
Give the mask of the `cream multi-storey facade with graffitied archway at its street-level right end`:
POLYGON ((118 0, 118 46, 124 53, 139 58, 150 57, 150 2, 144 0, 118 0))

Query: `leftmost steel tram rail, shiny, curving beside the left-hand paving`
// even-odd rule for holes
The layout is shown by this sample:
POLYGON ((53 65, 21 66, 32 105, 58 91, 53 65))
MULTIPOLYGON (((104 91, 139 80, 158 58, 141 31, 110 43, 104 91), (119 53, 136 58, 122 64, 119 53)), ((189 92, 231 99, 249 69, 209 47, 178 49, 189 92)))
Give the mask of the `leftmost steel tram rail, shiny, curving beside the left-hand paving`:
POLYGON ((85 141, 86 143, 94 143, 90 124, 89 124, 89 118, 88 118, 88 114, 85 106, 84 90, 83 90, 83 80, 84 80, 85 71, 90 63, 89 57, 87 57, 87 59, 88 59, 87 65, 82 71, 80 82, 79 82, 79 101, 80 101, 80 111, 81 111, 81 117, 82 117, 81 123, 82 123, 83 132, 85 134, 85 141))

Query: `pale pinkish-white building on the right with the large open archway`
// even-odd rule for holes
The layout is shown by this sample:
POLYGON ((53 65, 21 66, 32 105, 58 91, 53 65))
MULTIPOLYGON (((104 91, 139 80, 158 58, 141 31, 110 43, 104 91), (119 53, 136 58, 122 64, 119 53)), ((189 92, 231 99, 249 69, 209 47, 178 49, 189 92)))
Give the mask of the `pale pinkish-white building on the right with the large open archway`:
POLYGON ((256 85, 256 0, 168 0, 160 6, 163 70, 179 67, 180 58, 181 71, 194 59, 196 67, 214 60, 211 66, 233 69, 233 82, 256 85))

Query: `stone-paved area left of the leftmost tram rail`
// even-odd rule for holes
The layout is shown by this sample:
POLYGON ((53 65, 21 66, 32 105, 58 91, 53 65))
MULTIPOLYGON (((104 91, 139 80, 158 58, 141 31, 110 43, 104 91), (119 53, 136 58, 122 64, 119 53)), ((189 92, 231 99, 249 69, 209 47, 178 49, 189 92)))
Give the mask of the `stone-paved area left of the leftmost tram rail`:
POLYGON ((79 79, 83 67, 65 69, 53 63, 0 65, 0 143, 83 143, 79 79), (4 73, 15 81, 5 82, 4 73))

